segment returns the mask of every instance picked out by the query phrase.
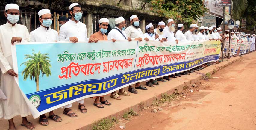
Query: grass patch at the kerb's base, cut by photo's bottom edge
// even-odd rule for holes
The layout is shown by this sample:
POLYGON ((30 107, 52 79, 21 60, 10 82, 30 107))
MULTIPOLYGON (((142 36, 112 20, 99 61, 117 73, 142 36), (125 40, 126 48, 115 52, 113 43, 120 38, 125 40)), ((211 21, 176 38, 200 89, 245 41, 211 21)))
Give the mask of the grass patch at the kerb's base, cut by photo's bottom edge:
POLYGON ((109 130, 113 127, 114 122, 118 122, 118 120, 115 117, 112 117, 111 119, 101 119, 97 123, 93 124, 92 130, 109 130))

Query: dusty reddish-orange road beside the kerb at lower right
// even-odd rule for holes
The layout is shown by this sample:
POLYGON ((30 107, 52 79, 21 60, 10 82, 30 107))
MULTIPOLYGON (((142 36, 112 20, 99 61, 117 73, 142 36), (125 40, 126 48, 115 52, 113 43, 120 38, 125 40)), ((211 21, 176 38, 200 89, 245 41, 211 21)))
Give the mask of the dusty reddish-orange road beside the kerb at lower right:
POLYGON ((193 95, 164 106, 163 111, 140 112, 125 129, 256 130, 255 70, 256 52, 213 75, 219 78, 202 80, 199 85, 202 91, 196 88, 193 95), (198 97, 201 99, 196 100, 198 97))

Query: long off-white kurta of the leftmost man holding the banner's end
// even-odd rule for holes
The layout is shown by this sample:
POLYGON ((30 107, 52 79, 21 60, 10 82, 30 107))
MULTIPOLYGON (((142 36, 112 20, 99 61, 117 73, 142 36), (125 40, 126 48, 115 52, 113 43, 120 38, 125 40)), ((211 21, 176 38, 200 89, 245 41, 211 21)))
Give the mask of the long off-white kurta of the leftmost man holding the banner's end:
MULTIPOLYGON (((13 69, 11 39, 12 37, 21 37, 22 42, 29 41, 28 29, 26 26, 9 23, 0 26, 0 89, 6 95, 6 100, 0 100, 0 118, 11 119, 16 115, 26 117, 30 115, 30 110, 19 89, 19 86, 7 71, 13 69), (2 113, 2 114, 1 114, 2 113)), ((17 73, 17 72, 16 72, 17 73)))

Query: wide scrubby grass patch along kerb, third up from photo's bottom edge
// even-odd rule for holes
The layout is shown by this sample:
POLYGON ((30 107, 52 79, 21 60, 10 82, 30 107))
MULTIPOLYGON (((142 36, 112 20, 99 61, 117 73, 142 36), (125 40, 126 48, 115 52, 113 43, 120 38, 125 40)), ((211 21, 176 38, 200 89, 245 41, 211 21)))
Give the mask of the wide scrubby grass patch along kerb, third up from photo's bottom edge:
POLYGON ((161 104, 165 103, 165 102, 169 102, 172 100, 175 100, 176 97, 179 96, 179 93, 177 91, 175 91, 172 95, 168 95, 168 94, 163 94, 160 100, 156 100, 154 102, 152 102, 153 106, 160 106, 161 104))

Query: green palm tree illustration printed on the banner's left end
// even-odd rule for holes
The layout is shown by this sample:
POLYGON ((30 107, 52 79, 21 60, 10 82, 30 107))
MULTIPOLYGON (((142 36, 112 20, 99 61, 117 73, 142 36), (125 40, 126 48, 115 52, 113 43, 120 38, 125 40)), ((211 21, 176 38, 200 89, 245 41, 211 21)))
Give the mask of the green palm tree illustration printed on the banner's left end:
POLYGON ((24 75, 24 80, 27 78, 35 80, 37 84, 37 90, 39 91, 39 75, 41 72, 41 76, 46 75, 48 77, 51 75, 51 64, 50 58, 47 56, 48 53, 42 54, 40 51, 35 53, 33 50, 32 55, 26 54, 24 59, 28 59, 28 61, 23 62, 21 65, 26 65, 26 68, 22 71, 22 76, 24 75))

